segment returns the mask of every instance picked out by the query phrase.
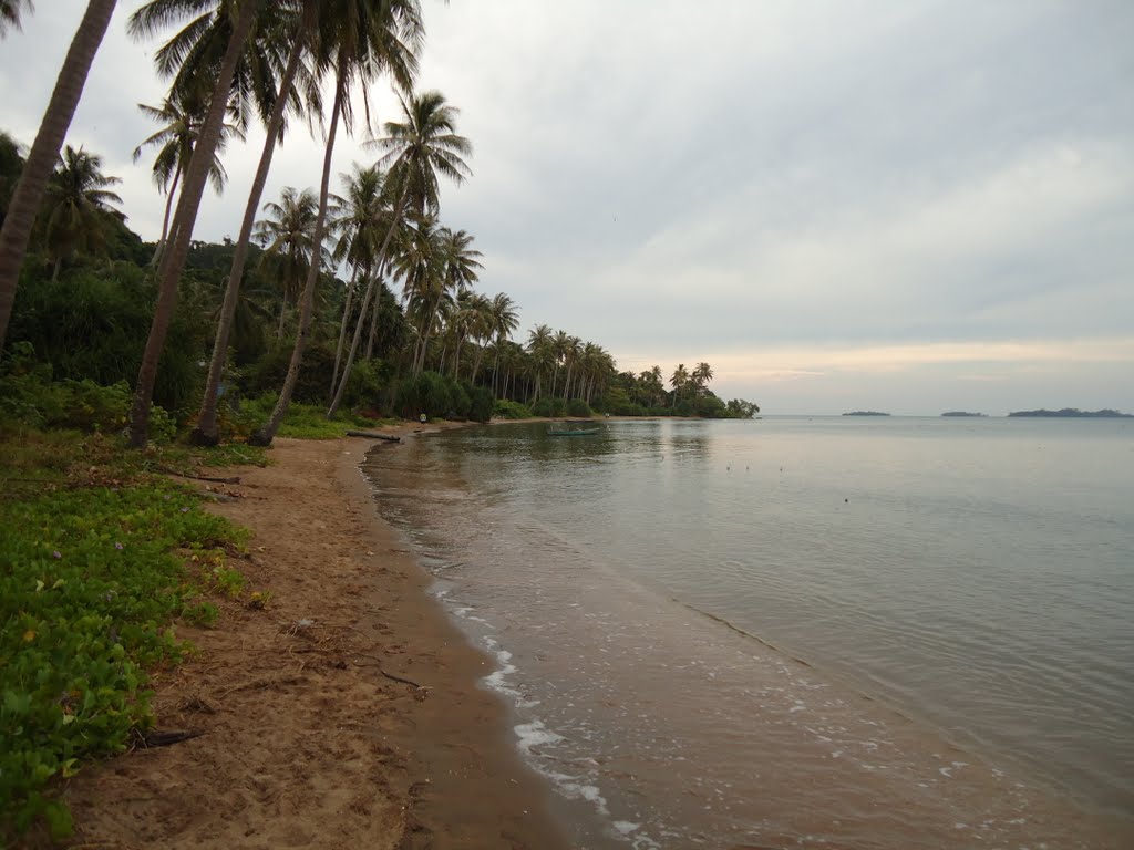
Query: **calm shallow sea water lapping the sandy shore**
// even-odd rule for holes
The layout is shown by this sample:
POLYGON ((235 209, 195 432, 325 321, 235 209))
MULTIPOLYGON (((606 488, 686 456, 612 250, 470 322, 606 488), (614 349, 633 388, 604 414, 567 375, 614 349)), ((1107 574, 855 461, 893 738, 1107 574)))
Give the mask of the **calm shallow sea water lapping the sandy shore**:
POLYGON ((579 847, 1134 847, 1134 423, 373 452, 579 847))

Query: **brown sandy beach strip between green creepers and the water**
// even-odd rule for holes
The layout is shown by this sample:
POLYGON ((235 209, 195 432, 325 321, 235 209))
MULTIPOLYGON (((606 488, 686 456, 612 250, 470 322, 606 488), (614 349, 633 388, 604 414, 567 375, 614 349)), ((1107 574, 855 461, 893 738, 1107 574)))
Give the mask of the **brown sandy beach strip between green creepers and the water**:
POLYGON ((477 685, 490 660, 374 512, 371 445, 277 440, 271 466, 211 485, 253 532, 234 559, 248 588, 217 628, 179 628, 197 652, 152 682, 158 729, 200 734, 84 770, 73 847, 566 845, 477 685))

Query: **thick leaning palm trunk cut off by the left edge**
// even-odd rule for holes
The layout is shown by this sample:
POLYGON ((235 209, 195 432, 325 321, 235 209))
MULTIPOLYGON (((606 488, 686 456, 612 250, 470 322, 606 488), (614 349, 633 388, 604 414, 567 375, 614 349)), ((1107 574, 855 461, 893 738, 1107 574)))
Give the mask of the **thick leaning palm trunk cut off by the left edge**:
POLYGON ((35 142, 32 143, 24 171, 8 204, 3 227, 0 228, 0 350, 3 349, 5 335, 8 333, 19 267, 24 264, 27 240, 35 224, 35 215, 40 212, 43 189, 56 167, 59 148, 62 147, 71 118, 75 117, 75 108, 83 94, 83 86, 86 85, 86 75, 99 45, 102 44, 116 2, 117 0, 91 0, 86 5, 86 12, 75 31, 67 58, 59 70, 54 91, 51 92, 35 142))

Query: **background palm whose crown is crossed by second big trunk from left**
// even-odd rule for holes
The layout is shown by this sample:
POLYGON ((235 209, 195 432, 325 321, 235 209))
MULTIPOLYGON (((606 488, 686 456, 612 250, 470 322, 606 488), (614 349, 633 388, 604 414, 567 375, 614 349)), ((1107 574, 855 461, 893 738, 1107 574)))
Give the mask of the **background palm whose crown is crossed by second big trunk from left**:
MULTIPOLYGON (((168 197, 166 199, 166 215, 161 223, 161 237, 158 239, 158 247, 154 249, 153 260, 156 263, 161 256, 162 247, 169 235, 169 219, 174 212, 174 198, 177 195, 177 186, 181 181, 185 169, 188 168, 193 158, 193 146, 196 144, 197 134, 201 131, 202 109, 201 104, 186 107, 177 101, 167 97, 160 107, 150 107, 139 103, 138 109, 146 118, 151 118, 161 125, 161 128, 149 136, 141 145, 134 148, 133 159, 137 162, 142 159, 143 150, 156 147, 158 156, 153 163, 153 181, 158 188, 168 197)), ((223 124, 221 126, 220 141, 213 152, 212 162, 209 163, 209 181, 213 190, 220 195, 225 190, 225 182, 228 180, 228 172, 221 164, 220 155, 225 152, 230 136, 236 136, 242 142, 244 133, 235 124, 223 124)))

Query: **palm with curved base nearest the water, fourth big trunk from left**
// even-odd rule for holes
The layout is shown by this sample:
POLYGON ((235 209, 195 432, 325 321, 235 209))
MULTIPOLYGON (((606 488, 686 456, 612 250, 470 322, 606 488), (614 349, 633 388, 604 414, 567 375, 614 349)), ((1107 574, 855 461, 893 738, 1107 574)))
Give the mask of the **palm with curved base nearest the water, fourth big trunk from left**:
MULTIPOLYGON (((346 97, 348 87, 357 80, 363 88, 363 101, 366 102, 370 82, 386 71, 404 91, 409 90, 417 74, 417 53, 421 49, 423 34, 424 28, 417 0, 324 0, 322 3, 318 33, 319 50, 316 52, 324 70, 333 68, 336 84, 327 134, 327 148, 323 155, 319 218, 315 222, 316 244, 322 241, 323 226, 327 219, 331 158, 335 152, 335 137, 339 119, 345 119, 348 131, 353 122, 350 102, 346 97)), ((388 233, 388 240, 390 236, 392 236, 392 228, 391 232, 388 233)), ((381 265, 382 257, 379 257, 375 266, 381 267, 381 265)), ((291 403, 291 392, 299 377, 299 364, 303 360, 307 342, 318 281, 319 264, 312 263, 303 290, 299 332, 291 350, 291 362, 288 364, 287 376, 284 379, 284 386, 271 416, 263 427, 252 436, 251 442, 256 445, 271 444, 276 432, 279 431, 279 426, 284 422, 288 406, 291 403)), ((358 330, 361 331, 361 326, 358 330)), ((339 390, 336 392, 338 401, 341 400, 342 392, 346 390, 350 365, 352 362, 348 358, 342 369, 339 390)), ((336 401, 332 401, 331 408, 335 407, 336 401)))

